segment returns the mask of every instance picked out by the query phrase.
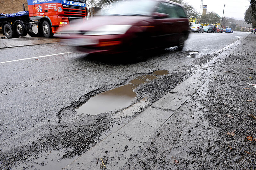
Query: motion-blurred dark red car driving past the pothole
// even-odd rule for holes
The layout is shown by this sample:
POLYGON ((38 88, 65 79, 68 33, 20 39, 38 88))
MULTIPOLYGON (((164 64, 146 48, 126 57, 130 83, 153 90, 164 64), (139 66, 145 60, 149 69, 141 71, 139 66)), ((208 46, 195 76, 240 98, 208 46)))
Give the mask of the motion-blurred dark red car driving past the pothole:
POLYGON ((86 53, 121 53, 178 46, 188 38, 188 19, 180 4, 132 0, 114 4, 101 16, 70 27, 69 45, 86 53))

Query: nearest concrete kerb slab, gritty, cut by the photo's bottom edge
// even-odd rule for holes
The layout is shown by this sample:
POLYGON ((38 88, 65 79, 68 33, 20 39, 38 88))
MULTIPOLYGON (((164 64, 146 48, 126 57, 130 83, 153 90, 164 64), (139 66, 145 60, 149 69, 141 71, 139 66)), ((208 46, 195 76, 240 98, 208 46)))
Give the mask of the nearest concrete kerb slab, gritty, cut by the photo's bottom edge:
POLYGON ((99 158, 103 159, 108 169, 119 169, 125 165, 131 154, 137 153, 141 144, 133 139, 129 140, 123 135, 113 133, 63 169, 99 170, 102 163, 99 158), (125 146, 127 146, 126 149, 125 146), (108 160, 106 161, 106 159, 108 160))

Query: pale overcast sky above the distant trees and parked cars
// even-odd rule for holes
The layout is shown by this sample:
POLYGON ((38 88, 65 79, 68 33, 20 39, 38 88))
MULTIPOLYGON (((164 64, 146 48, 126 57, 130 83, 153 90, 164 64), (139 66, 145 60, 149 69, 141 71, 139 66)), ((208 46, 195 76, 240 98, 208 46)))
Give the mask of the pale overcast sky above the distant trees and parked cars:
MULTIPOLYGON (((199 12, 201 0, 185 0, 188 4, 195 7, 199 12)), ((224 4, 224 17, 234 17, 244 20, 244 13, 250 5, 250 0, 203 0, 203 5, 207 5, 207 12, 215 12, 222 17, 224 4)))

